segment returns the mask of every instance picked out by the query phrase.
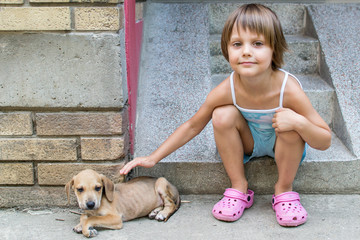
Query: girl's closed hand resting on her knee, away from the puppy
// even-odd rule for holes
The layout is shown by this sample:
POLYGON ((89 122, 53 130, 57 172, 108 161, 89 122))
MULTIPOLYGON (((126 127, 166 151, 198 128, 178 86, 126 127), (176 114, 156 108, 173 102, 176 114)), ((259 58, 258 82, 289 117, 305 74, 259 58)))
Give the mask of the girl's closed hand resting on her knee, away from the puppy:
POLYGON ((301 123, 301 118, 300 114, 297 114, 290 108, 280 108, 274 114, 272 127, 276 133, 296 131, 297 125, 301 123))

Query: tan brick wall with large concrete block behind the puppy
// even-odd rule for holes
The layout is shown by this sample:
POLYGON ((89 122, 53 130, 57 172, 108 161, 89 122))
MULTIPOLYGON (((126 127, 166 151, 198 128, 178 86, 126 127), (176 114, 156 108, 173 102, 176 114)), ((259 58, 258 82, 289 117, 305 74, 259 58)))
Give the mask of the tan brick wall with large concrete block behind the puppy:
POLYGON ((85 168, 121 180, 123 22, 120 0, 0 0, 0 207, 64 206, 85 168))

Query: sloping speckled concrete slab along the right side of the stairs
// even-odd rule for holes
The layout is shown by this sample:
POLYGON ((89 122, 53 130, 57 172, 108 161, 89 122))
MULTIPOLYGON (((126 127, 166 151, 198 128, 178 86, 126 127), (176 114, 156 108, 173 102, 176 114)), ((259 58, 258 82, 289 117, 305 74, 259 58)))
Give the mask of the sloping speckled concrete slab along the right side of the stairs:
POLYGON ((334 129, 356 156, 360 156, 360 3, 308 6, 319 38, 325 66, 339 102, 334 129), (341 113, 341 114, 340 114, 341 113))

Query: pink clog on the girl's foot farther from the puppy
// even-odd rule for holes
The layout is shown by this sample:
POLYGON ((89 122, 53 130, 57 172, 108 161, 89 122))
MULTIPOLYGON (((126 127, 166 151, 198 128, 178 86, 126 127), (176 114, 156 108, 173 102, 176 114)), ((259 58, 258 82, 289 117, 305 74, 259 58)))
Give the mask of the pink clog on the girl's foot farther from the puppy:
POLYGON ((307 212, 300 203, 297 192, 285 192, 273 196, 272 206, 281 226, 296 227, 306 222, 307 212))

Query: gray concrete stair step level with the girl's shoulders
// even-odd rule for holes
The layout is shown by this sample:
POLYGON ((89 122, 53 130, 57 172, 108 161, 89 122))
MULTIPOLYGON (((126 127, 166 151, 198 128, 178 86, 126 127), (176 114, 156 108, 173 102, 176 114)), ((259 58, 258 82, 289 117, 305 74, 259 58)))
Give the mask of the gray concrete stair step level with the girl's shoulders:
MULTIPOLYGON (((217 86, 228 76, 229 74, 212 75, 213 87, 217 86)), ((319 75, 296 74, 295 76, 300 80, 306 95, 316 111, 318 111, 327 124, 331 124, 334 115, 334 89, 319 75)))

